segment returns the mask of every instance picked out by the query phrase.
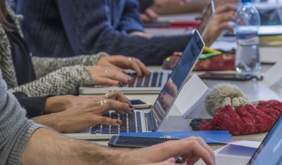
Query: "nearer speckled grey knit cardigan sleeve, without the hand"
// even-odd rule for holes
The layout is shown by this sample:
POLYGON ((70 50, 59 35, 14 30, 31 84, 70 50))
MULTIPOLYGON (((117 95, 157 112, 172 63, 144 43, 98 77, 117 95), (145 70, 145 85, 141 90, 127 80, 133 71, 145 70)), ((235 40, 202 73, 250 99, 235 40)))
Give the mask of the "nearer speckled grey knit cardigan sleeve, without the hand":
POLYGON ((23 92, 29 97, 73 95, 78 93, 79 86, 92 85, 94 85, 94 81, 87 68, 82 65, 74 65, 72 67, 62 67, 55 72, 47 74, 45 77, 16 88, 11 88, 9 91, 23 92))

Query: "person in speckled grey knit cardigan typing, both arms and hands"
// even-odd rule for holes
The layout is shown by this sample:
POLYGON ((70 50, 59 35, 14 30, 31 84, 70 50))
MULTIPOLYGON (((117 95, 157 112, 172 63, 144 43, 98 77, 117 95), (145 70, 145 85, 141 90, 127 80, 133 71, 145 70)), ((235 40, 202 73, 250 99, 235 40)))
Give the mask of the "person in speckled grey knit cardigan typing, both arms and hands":
POLYGON ((11 92, 29 97, 77 94, 79 86, 122 86, 133 82, 123 69, 138 75, 149 74, 137 58, 100 52, 73 58, 30 57, 30 51, 18 29, 18 17, 6 1, 0 1, 1 70, 11 92))

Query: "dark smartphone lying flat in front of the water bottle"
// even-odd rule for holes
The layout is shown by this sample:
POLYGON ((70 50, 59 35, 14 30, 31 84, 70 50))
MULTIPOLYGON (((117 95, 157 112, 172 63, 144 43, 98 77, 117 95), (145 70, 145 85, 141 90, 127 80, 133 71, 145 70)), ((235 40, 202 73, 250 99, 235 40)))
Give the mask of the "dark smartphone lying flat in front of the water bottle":
POLYGON ((217 79, 217 80, 231 80, 231 81, 247 81, 250 79, 262 80, 262 74, 238 74, 238 73, 212 73, 206 72, 199 76, 201 79, 217 79))

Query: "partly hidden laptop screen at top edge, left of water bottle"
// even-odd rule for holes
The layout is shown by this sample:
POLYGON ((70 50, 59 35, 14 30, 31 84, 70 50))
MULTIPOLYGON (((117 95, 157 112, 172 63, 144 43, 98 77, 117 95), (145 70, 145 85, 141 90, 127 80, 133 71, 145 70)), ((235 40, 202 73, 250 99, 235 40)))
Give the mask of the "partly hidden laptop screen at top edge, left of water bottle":
POLYGON ((212 21, 213 17, 214 17, 214 1, 211 1, 209 3, 209 6, 207 6, 206 11, 204 12, 204 15, 202 16, 202 20, 200 24, 197 27, 197 31, 200 33, 202 37, 204 37, 204 34, 206 34, 207 29, 209 28, 209 22, 212 21))

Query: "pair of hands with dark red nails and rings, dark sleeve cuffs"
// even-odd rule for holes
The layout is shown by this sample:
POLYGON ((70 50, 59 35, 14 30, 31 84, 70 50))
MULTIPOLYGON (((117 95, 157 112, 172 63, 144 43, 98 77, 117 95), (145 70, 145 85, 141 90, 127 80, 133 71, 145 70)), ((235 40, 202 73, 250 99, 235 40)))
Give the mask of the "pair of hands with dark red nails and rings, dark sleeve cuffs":
POLYGON ((37 124, 49 126, 61 133, 75 133, 105 124, 119 126, 120 119, 109 119, 102 114, 110 110, 118 114, 133 114, 133 105, 121 92, 97 96, 42 96, 29 98, 25 93, 13 93, 27 110, 27 118, 37 124))

